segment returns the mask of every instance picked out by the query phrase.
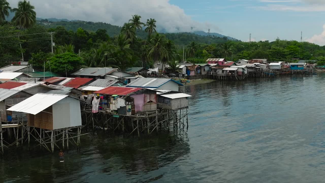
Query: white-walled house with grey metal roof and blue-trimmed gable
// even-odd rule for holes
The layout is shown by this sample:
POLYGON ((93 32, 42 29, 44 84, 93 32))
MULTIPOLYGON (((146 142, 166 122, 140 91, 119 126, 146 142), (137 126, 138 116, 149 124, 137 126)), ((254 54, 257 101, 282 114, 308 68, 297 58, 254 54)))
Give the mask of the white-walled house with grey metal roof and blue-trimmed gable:
POLYGON ((160 90, 179 91, 182 83, 168 78, 137 78, 135 81, 126 85, 126 87, 151 88, 160 90))

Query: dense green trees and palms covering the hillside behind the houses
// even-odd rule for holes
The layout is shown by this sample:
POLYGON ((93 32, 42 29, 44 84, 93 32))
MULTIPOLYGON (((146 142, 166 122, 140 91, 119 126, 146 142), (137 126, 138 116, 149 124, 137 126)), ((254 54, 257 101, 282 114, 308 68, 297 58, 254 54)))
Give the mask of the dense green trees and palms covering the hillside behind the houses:
MULTIPOLYGON (((111 66, 123 70, 131 66, 152 67, 155 61, 176 67, 175 61, 205 63, 208 58, 226 58, 227 61, 266 58, 269 61, 287 62, 293 62, 291 59, 296 58, 319 60, 319 65, 325 65, 325 47, 308 42, 278 38, 272 42, 249 43, 211 36, 209 45, 207 36, 190 33, 158 34, 156 21, 148 19, 142 22, 139 15, 130 17, 123 27, 110 25, 115 28, 109 29, 109 32, 102 28, 96 31, 76 28, 79 26, 78 21, 73 29, 63 26, 46 28, 36 24, 36 12, 33 9, 26 0, 20 1, 17 8, 11 8, 6 0, 0 0, 1 66, 23 58, 38 70, 43 70, 45 63, 46 70, 51 64, 52 71, 62 74, 67 70, 69 74, 81 67, 111 66), (15 12, 11 22, 6 21, 9 11, 15 12), (53 53, 51 32, 54 32, 55 42, 53 53)), ((94 29, 92 22, 89 27, 94 29)))

